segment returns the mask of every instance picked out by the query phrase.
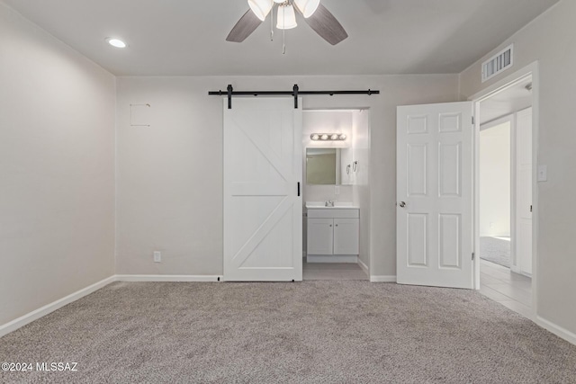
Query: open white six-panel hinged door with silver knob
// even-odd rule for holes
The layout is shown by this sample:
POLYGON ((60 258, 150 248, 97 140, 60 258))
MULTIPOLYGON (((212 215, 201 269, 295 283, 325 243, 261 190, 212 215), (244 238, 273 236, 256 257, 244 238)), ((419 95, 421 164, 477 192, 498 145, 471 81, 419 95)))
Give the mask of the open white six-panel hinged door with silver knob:
POLYGON ((398 107, 397 281, 473 288, 471 102, 398 107))

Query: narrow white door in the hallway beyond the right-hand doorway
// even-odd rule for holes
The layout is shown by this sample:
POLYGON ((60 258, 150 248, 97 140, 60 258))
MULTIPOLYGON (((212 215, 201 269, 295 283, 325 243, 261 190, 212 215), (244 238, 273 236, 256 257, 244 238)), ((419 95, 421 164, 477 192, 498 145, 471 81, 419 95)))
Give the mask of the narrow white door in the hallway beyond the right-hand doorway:
POLYGON ((516 259, 524 274, 532 274, 532 108, 517 113, 516 259))

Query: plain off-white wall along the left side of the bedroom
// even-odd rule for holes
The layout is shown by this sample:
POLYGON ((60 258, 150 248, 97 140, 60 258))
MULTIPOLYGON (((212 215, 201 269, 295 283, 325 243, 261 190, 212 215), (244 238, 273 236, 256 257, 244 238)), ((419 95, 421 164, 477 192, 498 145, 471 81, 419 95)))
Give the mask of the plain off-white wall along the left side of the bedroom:
POLYGON ((0 325, 114 273, 115 79, 0 3, 0 325))

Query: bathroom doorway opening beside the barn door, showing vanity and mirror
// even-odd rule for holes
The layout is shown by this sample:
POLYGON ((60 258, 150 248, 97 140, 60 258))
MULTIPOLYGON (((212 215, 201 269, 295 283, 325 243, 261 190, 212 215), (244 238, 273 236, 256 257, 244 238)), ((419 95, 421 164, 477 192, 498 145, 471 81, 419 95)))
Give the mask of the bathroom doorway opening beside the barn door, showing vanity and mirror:
POLYGON ((370 113, 302 112, 302 280, 369 280, 370 113))

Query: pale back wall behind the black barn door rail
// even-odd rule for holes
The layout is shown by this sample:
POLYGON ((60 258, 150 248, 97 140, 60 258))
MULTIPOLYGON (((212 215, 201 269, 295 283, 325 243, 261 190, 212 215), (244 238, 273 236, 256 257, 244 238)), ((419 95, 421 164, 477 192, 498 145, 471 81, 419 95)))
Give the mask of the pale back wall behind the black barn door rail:
MULTIPOLYGON (((370 108, 370 263, 396 274, 396 106, 457 99, 457 76, 119 77, 117 272, 222 272, 222 102, 208 91, 380 89, 305 96, 304 109, 370 108), (130 103, 150 103, 149 128, 130 103), (163 251, 163 263, 152 252, 163 251)), ((233 101, 232 101, 233 105, 233 101)), ((340 197, 342 199, 342 197, 340 197)))

